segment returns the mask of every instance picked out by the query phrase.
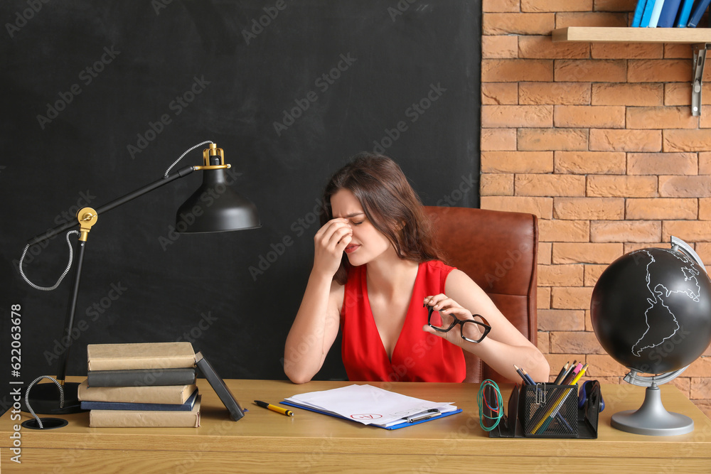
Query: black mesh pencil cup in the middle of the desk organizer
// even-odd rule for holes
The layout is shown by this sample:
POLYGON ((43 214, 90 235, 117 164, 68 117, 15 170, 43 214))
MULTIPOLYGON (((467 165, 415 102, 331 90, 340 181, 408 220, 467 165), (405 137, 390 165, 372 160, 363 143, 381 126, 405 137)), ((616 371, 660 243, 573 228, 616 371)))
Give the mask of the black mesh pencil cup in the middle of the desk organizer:
POLYGON ((577 438, 577 385, 525 385, 519 400, 523 436, 577 438))

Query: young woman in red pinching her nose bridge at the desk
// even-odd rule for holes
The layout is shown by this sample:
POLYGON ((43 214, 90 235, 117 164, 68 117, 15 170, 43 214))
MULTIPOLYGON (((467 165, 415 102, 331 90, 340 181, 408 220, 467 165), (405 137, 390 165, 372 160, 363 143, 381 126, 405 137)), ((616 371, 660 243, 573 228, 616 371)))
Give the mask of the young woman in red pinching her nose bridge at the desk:
POLYGON ((442 263, 422 203, 397 163, 358 154, 331 177, 324 203, 314 267, 284 350, 292 382, 319 372, 339 328, 351 380, 461 382, 467 350, 510 380, 520 378, 515 364, 547 381, 538 348, 469 276, 442 263), (465 323, 442 332, 428 325, 432 311, 433 325, 474 319, 491 330, 465 323))

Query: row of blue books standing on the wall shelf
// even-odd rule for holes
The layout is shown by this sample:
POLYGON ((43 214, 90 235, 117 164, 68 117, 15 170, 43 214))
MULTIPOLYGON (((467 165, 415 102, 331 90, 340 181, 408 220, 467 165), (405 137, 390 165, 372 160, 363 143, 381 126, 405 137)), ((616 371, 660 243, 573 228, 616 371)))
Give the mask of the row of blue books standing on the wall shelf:
POLYGON ((695 28, 711 0, 637 0, 633 27, 695 28))

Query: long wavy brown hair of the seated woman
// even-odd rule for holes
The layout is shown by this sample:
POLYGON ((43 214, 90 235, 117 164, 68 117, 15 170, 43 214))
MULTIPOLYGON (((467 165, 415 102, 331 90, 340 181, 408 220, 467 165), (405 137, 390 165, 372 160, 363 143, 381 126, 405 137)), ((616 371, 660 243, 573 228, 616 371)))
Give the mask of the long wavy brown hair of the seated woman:
MULTIPOLYGON (((333 219, 331 196, 347 189, 355 195, 368 220, 395 247, 401 259, 422 263, 442 260, 434 247, 432 226, 424 214, 422 202, 407 182, 400 166, 387 156, 358 153, 351 161, 331 176, 324 190, 326 212, 321 214, 321 225, 333 219)), ((346 284, 351 263, 343 254, 341 266, 333 277, 346 284)))

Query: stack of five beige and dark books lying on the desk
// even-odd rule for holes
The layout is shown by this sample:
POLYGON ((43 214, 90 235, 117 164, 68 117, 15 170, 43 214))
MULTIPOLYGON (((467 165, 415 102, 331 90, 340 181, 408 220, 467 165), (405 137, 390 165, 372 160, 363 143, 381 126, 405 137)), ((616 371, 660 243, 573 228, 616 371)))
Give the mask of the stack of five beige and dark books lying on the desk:
POLYGON ((200 426, 190 343, 90 344, 79 386, 89 426, 200 426))

